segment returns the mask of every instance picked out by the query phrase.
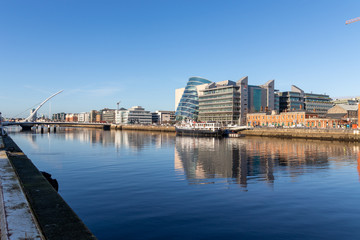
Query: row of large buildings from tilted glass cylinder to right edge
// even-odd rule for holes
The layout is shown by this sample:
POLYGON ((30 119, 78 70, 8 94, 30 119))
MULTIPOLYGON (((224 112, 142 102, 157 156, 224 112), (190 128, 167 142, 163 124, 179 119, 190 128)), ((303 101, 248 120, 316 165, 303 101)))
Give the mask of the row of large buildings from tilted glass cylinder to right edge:
POLYGON ((177 121, 189 119, 251 126, 337 126, 346 122, 344 118, 357 123, 357 103, 341 103, 342 110, 333 109, 335 104, 329 95, 307 93, 295 85, 290 91, 281 92, 275 89, 275 80, 249 85, 247 76, 238 81, 220 82, 191 77, 185 88, 175 90, 175 117, 177 121), (351 120, 349 109, 353 111, 351 120))

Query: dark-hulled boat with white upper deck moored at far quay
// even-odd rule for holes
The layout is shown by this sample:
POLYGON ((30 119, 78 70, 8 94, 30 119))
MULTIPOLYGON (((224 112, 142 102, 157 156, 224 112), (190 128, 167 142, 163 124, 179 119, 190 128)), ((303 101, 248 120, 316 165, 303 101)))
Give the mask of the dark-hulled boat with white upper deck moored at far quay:
POLYGON ((175 129, 179 136, 224 137, 228 134, 219 123, 187 122, 175 126, 175 129))

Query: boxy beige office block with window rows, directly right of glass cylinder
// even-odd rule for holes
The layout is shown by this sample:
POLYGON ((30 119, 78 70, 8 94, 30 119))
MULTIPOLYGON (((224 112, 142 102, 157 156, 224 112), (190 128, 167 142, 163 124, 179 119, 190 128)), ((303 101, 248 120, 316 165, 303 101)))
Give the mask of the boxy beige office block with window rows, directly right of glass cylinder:
POLYGON ((247 113, 248 78, 207 84, 199 91, 199 121, 244 124, 247 113))

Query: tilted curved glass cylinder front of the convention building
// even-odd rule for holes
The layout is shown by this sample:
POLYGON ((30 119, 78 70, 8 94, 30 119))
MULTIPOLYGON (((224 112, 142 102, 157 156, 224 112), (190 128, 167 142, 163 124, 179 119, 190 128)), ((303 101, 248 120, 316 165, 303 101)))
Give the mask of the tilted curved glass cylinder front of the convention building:
POLYGON ((197 120, 199 114, 199 96, 196 86, 211 83, 210 80, 200 77, 191 77, 185 87, 185 91, 176 109, 176 120, 183 119, 197 120))

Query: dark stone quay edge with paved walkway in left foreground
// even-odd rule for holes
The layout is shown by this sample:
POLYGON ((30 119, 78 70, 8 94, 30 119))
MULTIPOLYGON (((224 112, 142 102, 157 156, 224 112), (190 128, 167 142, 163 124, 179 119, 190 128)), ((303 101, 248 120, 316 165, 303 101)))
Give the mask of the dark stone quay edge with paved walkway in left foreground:
POLYGON ((1 240, 96 239, 44 175, 0 135, 1 240))

